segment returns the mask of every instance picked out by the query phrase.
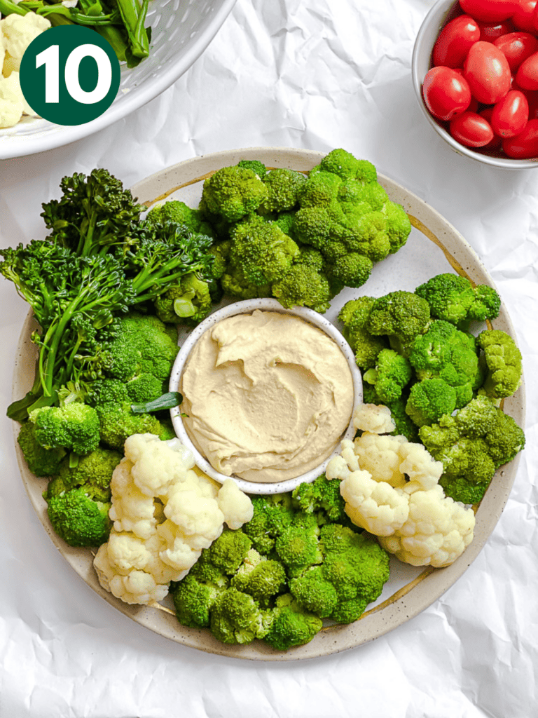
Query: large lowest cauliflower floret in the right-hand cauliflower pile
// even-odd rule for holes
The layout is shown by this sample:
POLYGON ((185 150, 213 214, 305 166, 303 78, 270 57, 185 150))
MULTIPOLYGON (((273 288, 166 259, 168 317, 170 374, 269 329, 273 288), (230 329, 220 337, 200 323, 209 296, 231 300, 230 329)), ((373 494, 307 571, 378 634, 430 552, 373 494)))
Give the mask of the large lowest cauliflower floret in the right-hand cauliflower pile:
POLYGON ((409 496, 407 521, 393 536, 379 536, 382 547, 413 566, 448 566, 473 540, 475 516, 445 496, 440 485, 409 496))

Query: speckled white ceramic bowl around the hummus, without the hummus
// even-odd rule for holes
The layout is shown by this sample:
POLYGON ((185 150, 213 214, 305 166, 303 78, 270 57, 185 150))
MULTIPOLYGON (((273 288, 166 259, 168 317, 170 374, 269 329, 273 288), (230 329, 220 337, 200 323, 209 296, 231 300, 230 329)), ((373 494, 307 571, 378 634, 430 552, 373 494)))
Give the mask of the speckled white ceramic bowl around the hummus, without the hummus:
MULTIPOLYGON (((329 335, 329 337, 331 337, 331 339, 333 339, 336 344, 339 345, 339 348, 341 349, 342 353, 344 354, 349 363, 349 368, 351 369, 351 377, 353 379, 354 408, 362 402, 361 373, 359 371, 359 368, 357 367, 357 363, 355 362, 354 353, 351 351, 349 344, 346 342, 339 330, 337 330, 336 327, 321 314, 318 314, 318 312, 314 312, 313 309, 308 309, 306 307, 294 307, 293 309, 284 309, 276 299, 245 299, 245 301, 243 302, 234 302, 233 304, 227 304, 226 307, 222 307, 222 309, 217 309, 217 311, 213 312, 213 314, 209 314, 209 317, 207 317, 203 322, 200 322, 200 324, 195 327, 194 330, 192 330, 192 332, 187 337, 187 340, 185 340, 183 345, 181 346, 179 354, 176 357, 174 367, 171 371, 169 383, 170 391, 179 391, 179 386, 181 384, 181 375, 183 374, 185 363, 189 358, 189 354, 191 353, 192 348, 194 348, 194 345, 197 343, 202 334, 204 334, 204 332, 209 330, 211 327, 214 327, 214 325, 216 325, 223 319, 226 319, 227 317, 235 316, 235 314, 250 314, 255 309, 269 309, 273 312, 293 314, 293 316, 301 317, 301 319, 310 322, 312 325, 318 327, 319 329, 323 330, 327 335, 329 335)), ((183 420, 181 419, 180 407, 175 407, 174 409, 171 409, 171 418, 177 436, 179 437, 179 439, 181 439, 181 443, 191 449, 192 453, 194 454, 194 460, 196 461, 197 466, 202 469, 202 471, 204 471, 208 476, 212 477, 214 480, 220 483, 223 483, 225 482, 225 480, 229 479, 230 476, 221 474, 220 472, 214 470, 214 468, 207 461, 207 459, 197 450, 196 447, 194 447, 194 444, 192 443, 191 439, 189 439, 189 434, 187 434, 187 431, 185 430, 183 420)), ((342 438, 352 439, 354 437, 354 434, 355 429, 353 427, 353 421, 351 421, 342 438)), ((250 494, 270 494, 283 493, 284 491, 292 491, 299 484, 303 482, 311 482, 316 479, 316 477, 318 477, 320 474, 322 474, 331 458, 339 452, 339 448, 339 446, 336 447, 331 456, 324 460, 324 462, 321 462, 314 469, 299 476, 296 476, 292 479, 273 483, 246 481, 235 476, 232 476, 232 479, 235 480, 235 482, 242 491, 245 491, 246 493, 250 494)))

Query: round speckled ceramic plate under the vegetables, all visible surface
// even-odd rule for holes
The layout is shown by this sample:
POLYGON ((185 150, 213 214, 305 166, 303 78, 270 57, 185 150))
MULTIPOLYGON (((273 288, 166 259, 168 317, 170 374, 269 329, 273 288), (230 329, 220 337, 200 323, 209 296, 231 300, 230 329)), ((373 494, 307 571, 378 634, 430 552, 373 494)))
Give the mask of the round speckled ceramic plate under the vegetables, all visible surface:
MULTIPOLYGON (((290 167, 306 172, 320 162, 324 154, 298 149, 250 148, 225 151, 195 157, 158 172, 133 187, 133 195, 151 206, 169 197, 179 197, 192 207, 197 206, 202 182, 205 177, 220 167, 237 164, 240 159, 259 159, 268 167, 290 167)), ((336 315, 344 302, 361 294, 380 296, 395 289, 412 291, 418 284, 440 272, 455 271, 467 276, 476 284, 494 286, 491 278, 479 261, 476 253, 458 231, 433 208, 419 197, 400 187, 387 177, 379 176, 379 182, 395 202, 400 202, 410 215, 412 232, 406 245, 374 267, 372 276, 362 289, 345 289, 336 297, 326 313, 329 320, 336 322, 336 315)), ((501 307, 496 329, 515 337, 514 327, 505 307, 501 307)), ((13 397, 20 398, 32 386, 35 347, 30 340, 32 319, 29 317, 19 342, 14 371, 13 397)), ((181 339, 180 339, 181 344, 181 339)), ((507 414, 524 426, 524 386, 504 404, 507 414)), ((18 424, 14 423, 15 434, 18 424)), ((186 628, 178 623, 171 604, 164 602, 162 610, 146 606, 131 606, 116 599, 105 591, 98 582, 93 569, 93 554, 89 549, 72 549, 56 536, 47 518, 46 504, 42 492, 47 481, 32 475, 19 452, 19 466, 22 480, 39 520, 75 572, 100 596, 123 614, 140 625, 177 643, 223 656, 245 658, 255 661, 291 661, 315 658, 354 648, 377 638, 402 625, 416 616, 440 597, 476 558, 489 534, 501 516, 516 475, 519 457, 501 467, 491 480, 486 495, 476 512, 476 530, 473 541, 465 553, 452 565, 443 569, 415 568, 391 558, 391 574, 384 591, 374 604, 355 623, 349 625, 328 625, 310 643, 280 653, 261 641, 248 645, 226 645, 212 637, 208 630, 186 628)))

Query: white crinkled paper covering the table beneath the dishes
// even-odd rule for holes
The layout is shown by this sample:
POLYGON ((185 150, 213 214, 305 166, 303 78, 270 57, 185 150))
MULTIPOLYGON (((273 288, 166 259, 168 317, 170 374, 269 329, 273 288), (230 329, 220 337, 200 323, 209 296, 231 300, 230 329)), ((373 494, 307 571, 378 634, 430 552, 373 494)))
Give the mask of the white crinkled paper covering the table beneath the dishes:
MULTIPOLYGON (((159 1, 159 0, 154 0, 159 1)), ((342 146, 447 218, 498 286, 524 355, 527 448, 504 513, 463 577, 423 613, 351 651, 285 663, 178 645, 100 599, 55 551, 0 419, 0 718, 531 718, 538 630, 538 167, 460 157, 412 90, 428 0, 237 0, 161 97, 59 149, 0 162, 0 245, 43 236, 61 177, 106 167, 127 186, 248 146, 342 146)), ((27 307, 0 281, 1 405, 27 307)))

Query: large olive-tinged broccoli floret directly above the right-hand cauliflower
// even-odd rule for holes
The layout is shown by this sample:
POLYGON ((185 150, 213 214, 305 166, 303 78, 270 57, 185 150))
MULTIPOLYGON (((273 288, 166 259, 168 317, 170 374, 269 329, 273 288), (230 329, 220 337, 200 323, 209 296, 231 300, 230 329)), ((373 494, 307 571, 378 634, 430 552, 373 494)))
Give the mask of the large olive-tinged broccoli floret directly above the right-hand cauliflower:
POLYGON ((473 398, 453 416, 422 426, 420 440, 443 462, 440 485, 445 494, 463 503, 477 503, 496 469, 524 448, 525 435, 514 419, 486 396, 473 398))

